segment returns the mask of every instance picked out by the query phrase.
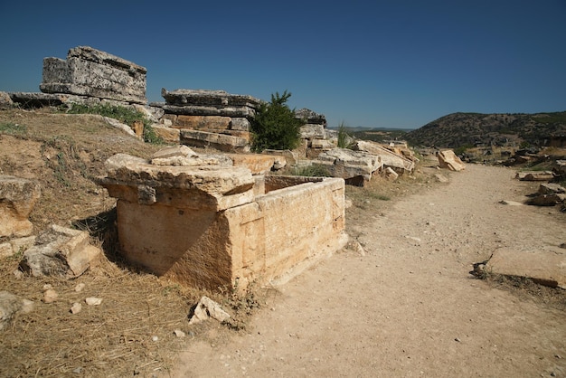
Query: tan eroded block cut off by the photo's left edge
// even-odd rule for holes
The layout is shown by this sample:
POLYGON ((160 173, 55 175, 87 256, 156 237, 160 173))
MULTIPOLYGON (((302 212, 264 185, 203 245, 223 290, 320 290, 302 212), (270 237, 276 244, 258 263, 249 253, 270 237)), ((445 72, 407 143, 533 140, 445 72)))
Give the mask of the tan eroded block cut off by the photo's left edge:
POLYGON ((28 217, 40 193, 37 183, 0 175, 0 237, 21 237, 33 232, 33 224, 28 217))

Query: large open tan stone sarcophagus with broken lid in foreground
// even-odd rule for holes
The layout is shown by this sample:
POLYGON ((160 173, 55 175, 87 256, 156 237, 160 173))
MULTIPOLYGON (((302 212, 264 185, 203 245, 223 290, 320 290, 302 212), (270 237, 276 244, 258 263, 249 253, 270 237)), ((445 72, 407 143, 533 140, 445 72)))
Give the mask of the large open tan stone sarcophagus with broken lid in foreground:
POLYGON ((251 175, 186 146, 112 156, 107 169, 120 250, 184 285, 285 280, 347 241, 340 178, 251 175))

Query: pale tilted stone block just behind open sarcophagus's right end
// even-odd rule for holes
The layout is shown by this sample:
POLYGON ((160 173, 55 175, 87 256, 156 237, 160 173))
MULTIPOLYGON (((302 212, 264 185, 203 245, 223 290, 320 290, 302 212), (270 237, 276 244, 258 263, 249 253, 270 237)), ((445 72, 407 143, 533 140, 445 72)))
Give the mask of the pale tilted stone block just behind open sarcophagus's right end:
POLYGON ((363 181, 371 180, 373 172, 383 166, 379 156, 337 147, 320 154, 313 164, 323 165, 334 177, 363 177, 363 181))

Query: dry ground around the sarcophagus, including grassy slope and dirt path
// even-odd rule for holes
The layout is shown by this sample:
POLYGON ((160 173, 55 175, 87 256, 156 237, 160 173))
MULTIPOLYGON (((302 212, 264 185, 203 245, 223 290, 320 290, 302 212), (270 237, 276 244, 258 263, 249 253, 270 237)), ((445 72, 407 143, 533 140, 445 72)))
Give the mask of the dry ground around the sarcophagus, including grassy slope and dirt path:
POLYGON ((15 109, 0 112, 0 127, 0 174, 42 185, 35 230, 88 219, 106 254, 74 280, 16 279, 18 256, 0 260, 0 287, 36 305, 0 337, 1 376, 566 376, 565 290, 469 274, 499 247, 566 242, 558 208, 499 203, 538 187, 515 180, 514 169, 450 174, 427 163, 414 179, 348 187, 347 231, 363 251, 240 298, 133 270, 111 233, 97 239, 111 227, 113 200, 91 178, 112 154, 159 146, 91 116, 15 109), (42 303, 45 284, 59 292, 52 304, 42 303), (188 325, 203 294, 239 310, 229 326, 188 325), (103 301, 71 314, 84 297, 103 301))

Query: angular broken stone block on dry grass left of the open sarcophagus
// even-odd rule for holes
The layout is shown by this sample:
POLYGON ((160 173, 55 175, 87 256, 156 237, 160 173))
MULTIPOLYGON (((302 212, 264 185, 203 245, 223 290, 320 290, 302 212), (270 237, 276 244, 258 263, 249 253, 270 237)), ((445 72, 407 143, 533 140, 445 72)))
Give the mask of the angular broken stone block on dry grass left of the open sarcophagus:
POLYGON ((89 239, 89 232, 53 224, 51 230, 37 237, 33 247, 24 251, 20 267, 33 277, 79 277, 101 254, 89 239))

